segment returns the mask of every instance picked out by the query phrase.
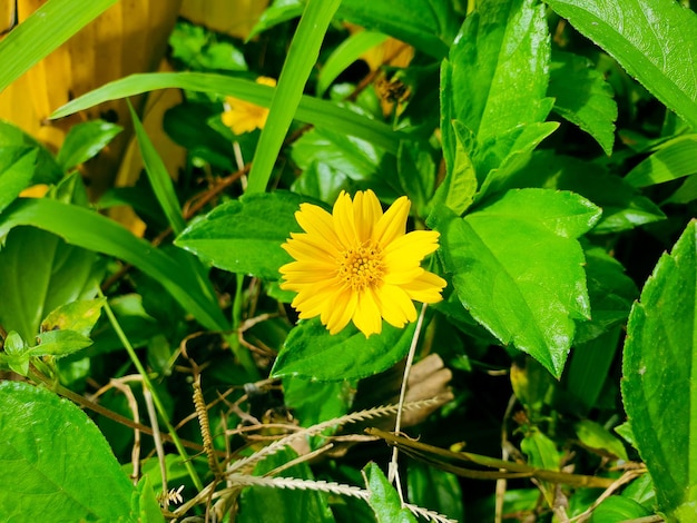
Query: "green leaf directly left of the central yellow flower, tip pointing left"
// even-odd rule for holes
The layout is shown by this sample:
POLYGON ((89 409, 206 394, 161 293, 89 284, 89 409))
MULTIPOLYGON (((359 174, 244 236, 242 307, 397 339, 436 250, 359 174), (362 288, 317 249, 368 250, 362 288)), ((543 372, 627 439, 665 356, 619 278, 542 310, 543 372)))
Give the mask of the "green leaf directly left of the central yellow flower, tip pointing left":
POLYGON ((278 279, 278 268, 291 262, 281 244, 300 230, 295 211, 302 201, 283 191, 228 201, 189 225, 175 245, 230 273, 278 279))

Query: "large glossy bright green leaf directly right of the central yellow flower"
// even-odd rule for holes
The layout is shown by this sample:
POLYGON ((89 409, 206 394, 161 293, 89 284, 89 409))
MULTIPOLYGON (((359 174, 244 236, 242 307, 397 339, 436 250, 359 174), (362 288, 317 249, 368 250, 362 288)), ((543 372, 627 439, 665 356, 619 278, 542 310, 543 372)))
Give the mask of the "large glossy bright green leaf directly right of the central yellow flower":
POLYGON ((441 258, 474 319, 559 377, 573 339, 573 319, 588 319, 583 251, 576 238, 600 210, 573 193, 508 191, 458 218, 438 207, 441 258))

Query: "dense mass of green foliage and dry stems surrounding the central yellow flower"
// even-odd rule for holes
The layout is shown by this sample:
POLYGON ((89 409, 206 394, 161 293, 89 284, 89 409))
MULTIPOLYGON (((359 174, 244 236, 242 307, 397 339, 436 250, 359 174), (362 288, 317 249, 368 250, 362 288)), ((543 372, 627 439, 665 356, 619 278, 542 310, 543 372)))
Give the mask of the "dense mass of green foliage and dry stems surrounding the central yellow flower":
MULTIPOLYGON (((82 3, 0 41, 0 89, 114 1, 82 3)), ((79 168, 118 126, 53 155, 0 121, 0 519, 697 521, 681 3, 277 0, 247 41, 179 20, 173 72, 55 108, 183 93, 159 126, 179 171, 131 107, 141 176, 96 201, 79 168), (387 37, 413 58, 372 70, 387 37), (228 97, 269 108, 263 129, 226 127, 228 97), (301 204, 366 189, 440 233, 448 287, 423 324, 332 335, 297 320, 281 245, 301 204), (393 434, 377 407, 414 355, 393 434)))

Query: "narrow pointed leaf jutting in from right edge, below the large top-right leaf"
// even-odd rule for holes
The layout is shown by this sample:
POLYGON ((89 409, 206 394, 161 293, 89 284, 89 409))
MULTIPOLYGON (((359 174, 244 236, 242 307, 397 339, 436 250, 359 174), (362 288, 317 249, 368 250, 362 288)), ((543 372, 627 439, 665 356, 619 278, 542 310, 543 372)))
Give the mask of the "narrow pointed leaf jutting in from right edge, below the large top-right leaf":
POLYGON ((664 145, 631 169, 625 181, 634 187, 671 181, 697 174, 697 135, 681 136, 664 145))

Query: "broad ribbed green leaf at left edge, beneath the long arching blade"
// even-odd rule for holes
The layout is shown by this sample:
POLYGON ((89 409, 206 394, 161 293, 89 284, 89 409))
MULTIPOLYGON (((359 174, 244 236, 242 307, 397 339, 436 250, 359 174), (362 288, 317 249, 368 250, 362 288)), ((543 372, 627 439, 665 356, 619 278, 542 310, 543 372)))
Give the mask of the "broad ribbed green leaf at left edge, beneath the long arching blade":
POLYGON ((12 229, 0 250, 0 323, 31 343, 51 310, 96 295, 96 262, 94 253, 43 230, 12 229))

